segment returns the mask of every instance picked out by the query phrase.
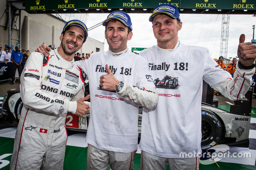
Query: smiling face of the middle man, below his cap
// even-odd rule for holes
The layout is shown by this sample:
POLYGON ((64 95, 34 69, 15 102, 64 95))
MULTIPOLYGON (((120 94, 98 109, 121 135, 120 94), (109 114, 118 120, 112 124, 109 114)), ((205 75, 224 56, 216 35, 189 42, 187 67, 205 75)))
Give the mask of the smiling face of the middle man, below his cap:
POLYGON ((132 39, 132 32, 128 33, 128 27, 116 20, 108 21, 105 30, 105 38, 109 50, 118 53, 127 48, 127 41, 132 39))

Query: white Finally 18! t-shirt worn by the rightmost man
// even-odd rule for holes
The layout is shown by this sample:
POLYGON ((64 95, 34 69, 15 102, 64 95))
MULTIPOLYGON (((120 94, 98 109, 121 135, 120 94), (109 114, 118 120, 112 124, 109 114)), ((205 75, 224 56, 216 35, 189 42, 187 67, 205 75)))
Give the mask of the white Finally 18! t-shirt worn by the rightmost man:
POLYGON ((170 52, 161 52, 155 45, 140 55, 148 60, 152 79, 160 80, 156 108, 143 109, 140 149, 164 158, 201 153, 203 79, 215 85, 230 74, 218 67, 207 48, 180 43, 170 52), (167 81, 170 77, 175 85, 167 81))

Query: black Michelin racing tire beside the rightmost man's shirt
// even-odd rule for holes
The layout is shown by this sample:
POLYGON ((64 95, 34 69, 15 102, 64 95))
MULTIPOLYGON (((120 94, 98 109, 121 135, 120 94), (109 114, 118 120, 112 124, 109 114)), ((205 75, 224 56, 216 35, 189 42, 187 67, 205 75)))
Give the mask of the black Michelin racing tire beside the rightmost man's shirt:
POLYGON ((222 125, 220 119, 209 110, 202 110, 202 140, 201 149, 206 150, 218 144, 222 136, 222 125))

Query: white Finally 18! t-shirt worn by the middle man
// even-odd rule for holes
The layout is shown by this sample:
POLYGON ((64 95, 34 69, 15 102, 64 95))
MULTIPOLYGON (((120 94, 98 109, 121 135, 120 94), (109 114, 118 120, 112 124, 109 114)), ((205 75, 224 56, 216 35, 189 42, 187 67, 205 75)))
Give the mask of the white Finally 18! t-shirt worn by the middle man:
POLYGON ((148 62, 128 50, 118 56, 109 51, 92 53, 87 60, 76 64, 88 76, 91 96, 91 115, 86 142, 98 149, 113 152, 133 152, 138 145, 139 106, 124 100, 116 92, 100 90, 100 76, 107 74, 106 64, 117 80, 140 88, 155 87, 145 75, 150 75, 148 62))

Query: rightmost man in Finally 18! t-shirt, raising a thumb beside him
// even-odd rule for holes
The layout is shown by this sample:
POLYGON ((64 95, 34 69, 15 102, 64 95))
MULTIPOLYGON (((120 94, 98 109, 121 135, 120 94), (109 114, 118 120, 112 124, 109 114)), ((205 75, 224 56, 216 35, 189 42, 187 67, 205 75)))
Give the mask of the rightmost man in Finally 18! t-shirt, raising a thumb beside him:
POLYGON ((157 45, 140 52, 159 93, 154 109, 143 109, 141 170, 198 169, 201 151, 201 98, 203 80, 231 100, 241 99, 251 85, 256 46, 240 37, 234 79, 213 60, 209 50, 188 46, 178 39, 182 27, 176 6, 162 4, 149 21, 157 45), (243 52, 243 54, 242 54, 243 52), (195 64, 196 63, 196 64, 195 64), (180 153, 196 153, 180 158, 180 153))

